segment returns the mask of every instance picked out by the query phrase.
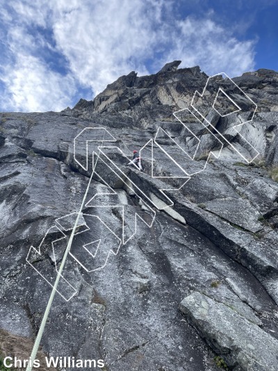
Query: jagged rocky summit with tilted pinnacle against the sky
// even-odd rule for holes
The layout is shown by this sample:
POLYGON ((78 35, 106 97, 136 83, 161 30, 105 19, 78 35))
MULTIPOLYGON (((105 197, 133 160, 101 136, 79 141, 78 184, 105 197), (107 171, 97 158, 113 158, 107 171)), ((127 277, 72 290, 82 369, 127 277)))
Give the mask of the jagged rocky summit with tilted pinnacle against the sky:
POLYGON ((184 106, 183 100, 189 100, 189 93, 193 93, 193 86, 204 86, 207 76, 201 72, 199 66, 177 69, 180 61, 167 63, 159 72, 148 76, 137 76, 132 71, 119 77, 112 84, 108 84, 103 92, 93 101, 80 100, 74 106, 74 114, 83 114, 91 118, 93 113, 116 113, 138 106, 154 104, 169 104, 170 106, 184 106), (169 91, 167 91, 169 90, 169 91))

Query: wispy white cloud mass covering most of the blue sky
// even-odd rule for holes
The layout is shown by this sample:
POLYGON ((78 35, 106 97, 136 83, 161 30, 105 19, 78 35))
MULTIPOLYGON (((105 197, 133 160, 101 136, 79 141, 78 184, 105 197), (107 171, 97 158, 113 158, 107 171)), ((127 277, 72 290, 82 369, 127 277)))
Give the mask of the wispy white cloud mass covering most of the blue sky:
POLYGON ((10 0, 9 6, 0 13, 8 55, 0 79, 10 109, 60 110, 75 103, 78 86, 93 95, 122 74, 156 72, 174 59, 207 74, 254 68, 254 41, 240 42, 209 15, 175 21, 172 1, 10 0), (54 42, 31 34, 35 26, 50 31, 54 42), (45 48, 67 61, 65 76, 44 60, 45 48))

